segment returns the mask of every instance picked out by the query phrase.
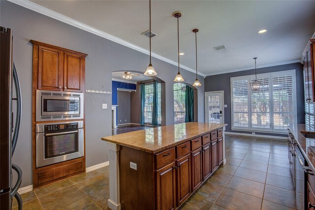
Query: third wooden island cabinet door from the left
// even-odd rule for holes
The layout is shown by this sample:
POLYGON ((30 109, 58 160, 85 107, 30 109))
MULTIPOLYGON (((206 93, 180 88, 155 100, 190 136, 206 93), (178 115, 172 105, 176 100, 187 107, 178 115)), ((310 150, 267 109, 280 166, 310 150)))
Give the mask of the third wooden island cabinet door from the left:
POLYGON ((195 191, 202 183, 202 149, 195 150, 191 155, 192 162, 192 191, 195 191))

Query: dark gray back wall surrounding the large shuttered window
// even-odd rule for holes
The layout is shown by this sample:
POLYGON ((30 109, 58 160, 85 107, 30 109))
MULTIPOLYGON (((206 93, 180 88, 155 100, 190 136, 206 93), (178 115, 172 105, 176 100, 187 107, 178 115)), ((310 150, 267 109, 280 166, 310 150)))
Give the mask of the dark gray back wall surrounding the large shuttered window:
MULTIPOLYGON (((276 72, 276 71, 285 71, 285 70, 292 70, 292 69, 295 69, 295 79, 296 79, 297 123, 305 123, 303 65, 297 62, 297 63, 286 64, 286 65, 259 68, 257 69, 257 74, 276 72)), ((224 104, 227 104, 227 108, 224 108, 224 122, 228 124, 226 126, 226 132, 252 133, 252 132, 231 130, 231 88, 230 88, 231 77, 239 77, 239 76, 252 75, 252 74, 255 74, 255 69, 207 76, 205 78, 205 92, 224 90, 224 104)), ((256 134, 268 135, 268 133, 260 133, 260 132, 256 132, 256 134)), ((269 134, 269 135, 276 135, 276 134, 269 134)))

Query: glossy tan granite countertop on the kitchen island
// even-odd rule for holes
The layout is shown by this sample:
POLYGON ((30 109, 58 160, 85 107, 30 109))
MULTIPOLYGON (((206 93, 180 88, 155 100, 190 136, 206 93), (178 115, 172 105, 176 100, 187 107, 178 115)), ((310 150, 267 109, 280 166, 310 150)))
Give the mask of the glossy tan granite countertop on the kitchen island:
POLYGON ((227 124, 187 122, 107 136, 101 139, 136 150, 157 153, 180 145, 185 141, 203 136, 226 125, 227 124))

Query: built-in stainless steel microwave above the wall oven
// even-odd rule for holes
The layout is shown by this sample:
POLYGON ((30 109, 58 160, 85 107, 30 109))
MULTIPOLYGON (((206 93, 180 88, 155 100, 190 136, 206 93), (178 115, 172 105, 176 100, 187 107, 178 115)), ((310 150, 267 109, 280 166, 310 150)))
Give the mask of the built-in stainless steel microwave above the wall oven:
POLYGON ((36 90, 36 121, 83 119, 83 93, 36 90))

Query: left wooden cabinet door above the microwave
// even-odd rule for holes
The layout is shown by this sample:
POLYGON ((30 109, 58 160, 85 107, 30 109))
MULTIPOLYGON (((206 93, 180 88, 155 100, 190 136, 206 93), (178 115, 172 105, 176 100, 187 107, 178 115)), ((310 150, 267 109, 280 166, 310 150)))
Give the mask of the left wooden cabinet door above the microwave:
POLYGON ((63 90, 63 52, 38 47, 38 89, 63 90))

